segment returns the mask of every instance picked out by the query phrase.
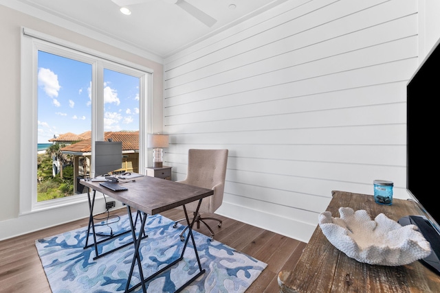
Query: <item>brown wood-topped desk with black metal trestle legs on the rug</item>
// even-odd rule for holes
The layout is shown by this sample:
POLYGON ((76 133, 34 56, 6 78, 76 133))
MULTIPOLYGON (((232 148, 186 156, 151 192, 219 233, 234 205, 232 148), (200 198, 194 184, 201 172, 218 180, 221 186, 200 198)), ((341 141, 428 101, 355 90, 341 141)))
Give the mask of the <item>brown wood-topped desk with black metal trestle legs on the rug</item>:
POLYGON ((144 293, 146 293, 146 285, 145 283, 149 281, 150 279, 153 279, 153 277, 157 276, 158 274, 161 274, 171 266, 174 266, 175 263, 178 263, 181 261, 181 259, 184 258, 184 253, 186 250, 186 246, 188 245, 188 240, 191 239, 192 246, 195 250, 195 255, 197 258, 197 264, 199 266, 199 273, 196 274, 194 277, 192 277, 190 280, 188 280, 184 285, 181 286, 181 288, 178 288, 176 292, 179 292, 183 288, 186 287, 189 283, 197 279, 205 272, 201 268, 201 263, 199 260, 199 255, 197 253, 197 247, 195 245, 194 236, 192 235, 192 224, 194 224, 194 219, 192 222, 190 222, 188 218, 188 213, 186 212, 186 208, 184 204, 188 204, 189 202, 194 202, 196 200, 199 200, 199 205, 197 207, 196 213, 199 211, 199 207, 201 204, 201 200, 203 198, 206 198, 207 196, 211 196, 214 194, 214 191, 212 189, 206 189, 201 187, 195 187, 191 185, 185 185, 183 183, 177 183, 171 180, 164 180, 162 178, 155 178, 150 176, 142 176, 135 178, 135 181, 133 180, 123 183, 119 182, 118 184, 127 187, 128 190, 126 191, 112 191, 110 189, 107 189, 106 187, 102 187, 99 182, 94 181, 85 181, 80 180, 80 183, 82 185, 85 185, 87 187, 90 187, 93 190, 93 197, 90 197, 90 192, 87 192, 87 195, 89 196, 89 228, 92 228, 93 235, 94 235, 94 246, 95 251, 98 253, 96 242, 96 233, 94 230, 94 222, 93 222, 93 212, 94 212, 94 200, 96 196, 96 191, 102 192, 102 194, 106 194, 107 196, 111 196, 111 198, 114 198, 115 200, 119 200, 120 202, 123 202, 126 204, 127 212, 129 213, 129 220, 130 220, 130 226, 131 226, 131 234, 133 236, 133 242, 135 246, 135 253, 133 255, 133 261, 131 262, 131 269, 129 272, 129 277, 127 278, 126 288, 125 292, 131 292, 135 290, 135 288, 142 285, 142 290, 144 293), (184 244, 184 248, 181 252, 181 256, 173 261, 172 263, 168 263, 167 266, 164 268, 161 268, 159 271, 155 272, 151 276, 142 279, 140 283, 137 283, 136 285, 132 285, 130 287, 130 281, 133 274, 133 270, 135 267, 135 264, 137 263, 138 270, 140 272, 140 276, 144 276, 144 273, 142 272, 142 263, 141 263, 141 257, 140 257, 140 242, 142 239, 144 239, 142 233, 144 231, 146 218, 148 215, 155 215, 157 213, 161 213, 163 211, 167 211, 168 209, 173 209, 175 207, 184 207, 184 213, 186 218, 186 223, 188 224, 188 236, 186 237, 186 241, 184 244), (137 209, 137 211, 141 211, 144 215, 141 217, 141 226, 139 229, 139 233, 135 233, 135 221, 133 221, 131 208, 137 209))

